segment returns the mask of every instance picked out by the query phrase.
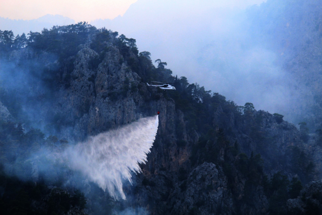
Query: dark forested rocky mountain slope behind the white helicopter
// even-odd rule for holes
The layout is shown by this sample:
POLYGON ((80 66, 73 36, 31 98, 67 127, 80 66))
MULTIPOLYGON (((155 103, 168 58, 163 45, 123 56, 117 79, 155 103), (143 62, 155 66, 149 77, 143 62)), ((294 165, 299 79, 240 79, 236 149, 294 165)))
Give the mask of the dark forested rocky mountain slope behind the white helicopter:
POLYGON ((320 192, 300 194, 320 179, 322 162, 321 137, 309 136, 304 123, 298 130, 280 114, 237 106, 174 77, 166 62, 154 66, 135 39, 117 32, 78 23, 28 39, 0 33, 5 213, 309 214, 311 202, 322 208, 320 192), (148 88, 149 81, 177 90, 148 88), (124 185, 126 200, 79 180, 68 166, 55 164, 48 173, 29 160, 42 147, 59 160, 64 147, 157 111, 156 139, 142 173, 124 185), (299 195, 308 206, 288 201, 299 195))

